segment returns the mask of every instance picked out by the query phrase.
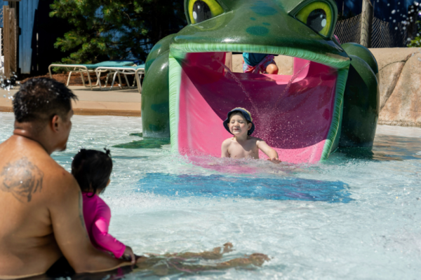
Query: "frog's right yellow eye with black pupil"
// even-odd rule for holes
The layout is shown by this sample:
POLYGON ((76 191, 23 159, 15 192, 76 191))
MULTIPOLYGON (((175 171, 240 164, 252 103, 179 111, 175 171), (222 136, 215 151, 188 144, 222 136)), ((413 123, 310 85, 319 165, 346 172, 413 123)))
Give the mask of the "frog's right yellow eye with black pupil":
POLYGON ((326 2, 316 1, 302 8, 295 18, 323 36, 328 36, 333 22, 333 11, 326 2))

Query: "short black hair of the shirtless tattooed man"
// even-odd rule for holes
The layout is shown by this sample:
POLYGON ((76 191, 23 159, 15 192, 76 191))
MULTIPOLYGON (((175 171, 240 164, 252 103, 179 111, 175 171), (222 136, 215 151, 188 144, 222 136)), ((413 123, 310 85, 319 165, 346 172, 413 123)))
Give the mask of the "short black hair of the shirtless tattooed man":
POLYGON ((66 119, 72 109, 72 90, 51 78, 32 78, 20 85, 13 97, 13 111, 18 123, 51 120, 58 115, 66 119))

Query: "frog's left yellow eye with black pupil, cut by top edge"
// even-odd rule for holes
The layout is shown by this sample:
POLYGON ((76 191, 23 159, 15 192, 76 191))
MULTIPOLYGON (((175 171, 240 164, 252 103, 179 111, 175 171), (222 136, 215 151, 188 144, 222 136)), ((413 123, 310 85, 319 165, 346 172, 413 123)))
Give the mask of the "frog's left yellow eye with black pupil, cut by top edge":
POLYGON ((192 24, 203 22, 224 13, 224 9, 215 0, 190 0, 189 16, 192 24))

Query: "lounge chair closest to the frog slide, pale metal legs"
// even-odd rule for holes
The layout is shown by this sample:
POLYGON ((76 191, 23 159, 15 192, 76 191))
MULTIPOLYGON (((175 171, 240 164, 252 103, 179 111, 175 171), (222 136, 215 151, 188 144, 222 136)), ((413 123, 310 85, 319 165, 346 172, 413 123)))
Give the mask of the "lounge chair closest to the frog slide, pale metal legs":
POLYGON ((97 69, 95 69, 95 73, 97 74, 100 87, 102 87, 102 85, 101 85, 101 81, 99 77, 100 77, 100 74, 105 71, 109 71, 109 73, 107 74, 107 79, 105 80, 105 87, 107 87, 109 76, 113 76, 110 88, 114 86, 117 76, 119 77, 119 83, 121 85, 120 74, 124 76, 124 78, 126 79, 127 86, 130 87, 130 83, 128 83, 127 75, 135 75, 135 79, 133 80, 132 87, 135 87, 137 83, 138 91, 139 93, 142 93, 142 84, 140 83, 140 79, 142 78, 142 75, 145 74, 145 64, 136 65, 136 66, 119 66, 119 67, 99 66, 97 69))

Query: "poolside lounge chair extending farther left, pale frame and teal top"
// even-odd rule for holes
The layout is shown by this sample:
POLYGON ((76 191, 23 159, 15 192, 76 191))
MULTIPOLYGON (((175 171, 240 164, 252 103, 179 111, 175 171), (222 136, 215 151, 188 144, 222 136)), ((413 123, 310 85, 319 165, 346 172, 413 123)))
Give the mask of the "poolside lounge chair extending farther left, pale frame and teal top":
POLYGON ((53 78, 53 75, 51 74, 51 67, 61 67, 61 68, 67 69, 69 71, 69 78, 67 78, 67 86, 69 86, 70 76, 72 76, 72 73, 74 72, 81 73, 83 86, 88 87, 87 85, 85 85, 85 79, 83 78, 83 73, 86 73, 86 76, 88 76, 89 87, 91 87, 91 90, 92 90, 93 86, 95 87, 100 84, 100 80, 98 79, 97 83, 95 85, 92 85, 91 75, 90 75, 90 73, 95 72, 95 70, 98 67, 132 66, 136 62, 137 61, 133 61, 133 60, 110 60, 106 62, 100 62, 97 64, 51 64, 50 66, 48 66, 48 72, 50 73, 50 77, 53 78))

